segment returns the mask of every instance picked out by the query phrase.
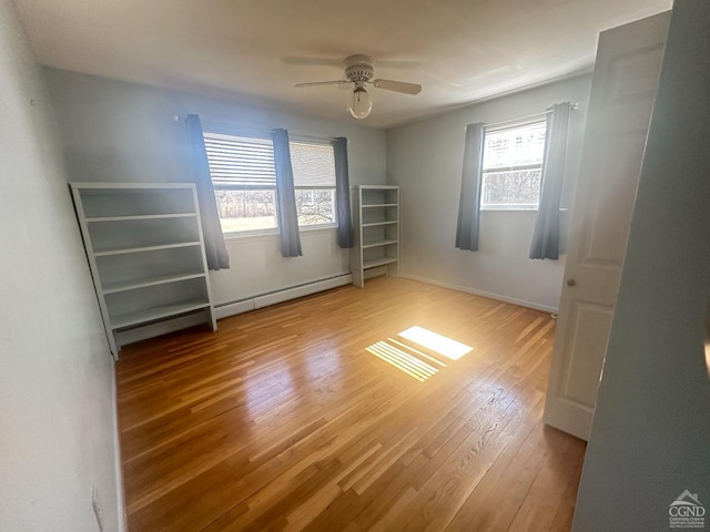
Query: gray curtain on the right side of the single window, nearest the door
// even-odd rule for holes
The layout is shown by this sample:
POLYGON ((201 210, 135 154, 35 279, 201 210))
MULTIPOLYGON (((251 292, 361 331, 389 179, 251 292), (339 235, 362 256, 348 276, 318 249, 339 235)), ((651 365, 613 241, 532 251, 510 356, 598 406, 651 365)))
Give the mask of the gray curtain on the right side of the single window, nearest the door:
POLYGON ((540 203, 532 231, 530 258, 551 258, 554 260, 559 258, 559 202, 565 183, 570 112, 571 104, 562 102, 552 105, 552 111, 547 115, 540 203))

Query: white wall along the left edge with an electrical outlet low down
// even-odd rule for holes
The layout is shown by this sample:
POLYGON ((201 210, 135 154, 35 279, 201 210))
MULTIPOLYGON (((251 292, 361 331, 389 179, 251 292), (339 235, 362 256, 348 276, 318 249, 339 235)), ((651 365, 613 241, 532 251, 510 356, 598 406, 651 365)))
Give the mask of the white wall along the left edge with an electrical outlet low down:
POLYGON ((0 530, 120 528, 113 365, 47 88, 0 0, 0 530))

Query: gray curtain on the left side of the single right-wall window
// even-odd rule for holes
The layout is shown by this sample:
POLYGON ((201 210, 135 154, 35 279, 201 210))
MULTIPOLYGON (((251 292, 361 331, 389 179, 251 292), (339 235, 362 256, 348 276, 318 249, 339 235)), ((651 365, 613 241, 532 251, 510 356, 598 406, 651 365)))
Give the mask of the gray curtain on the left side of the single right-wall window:
POLYGON ((456 224, 456 247, 478 250, 478 225, 480 217, 480 180, 484 162, 485 130, 483 123, 466 126, 462 192, 456 224))

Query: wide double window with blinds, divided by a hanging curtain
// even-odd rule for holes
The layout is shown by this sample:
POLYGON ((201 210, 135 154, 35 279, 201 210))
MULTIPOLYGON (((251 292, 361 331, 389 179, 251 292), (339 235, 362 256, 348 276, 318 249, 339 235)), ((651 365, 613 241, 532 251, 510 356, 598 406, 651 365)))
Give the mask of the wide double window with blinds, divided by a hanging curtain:
MULTIPOLYGON (((204 132, 210 174, 224 233, 278 228, 271 139, 204 132)), ((290 143, 300 226, 334 225, 333 146, 290 143)))

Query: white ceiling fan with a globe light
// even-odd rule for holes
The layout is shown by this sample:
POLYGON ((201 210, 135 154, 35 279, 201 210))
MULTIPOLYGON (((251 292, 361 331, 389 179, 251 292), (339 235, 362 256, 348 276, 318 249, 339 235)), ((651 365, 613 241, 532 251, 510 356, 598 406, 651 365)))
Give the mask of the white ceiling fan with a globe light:
POLYGON ((342 85, 344 83, 354 83, 355 88, 353 89, 353 98, 347 105, 347 110, 358 120, 367 117, 373 109, 373 100, 365 89, 367 83, 376 86, 377 89, 402 92, 404 94, 418 94, 422 91, 422 85, 417 83, 381 79, 373 80, 373 76, 375 75, 374 63, 375 60, 369 55, 351 55, 345 58, 343 61, 343 65, 345 66, 344 80, 296 83, 294 86, 342 85))

